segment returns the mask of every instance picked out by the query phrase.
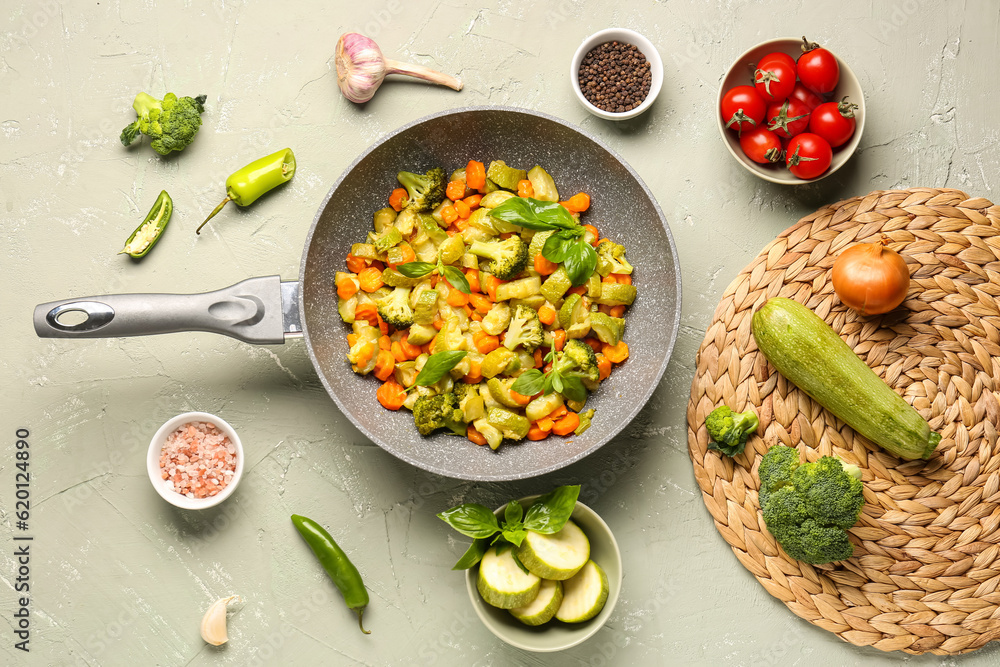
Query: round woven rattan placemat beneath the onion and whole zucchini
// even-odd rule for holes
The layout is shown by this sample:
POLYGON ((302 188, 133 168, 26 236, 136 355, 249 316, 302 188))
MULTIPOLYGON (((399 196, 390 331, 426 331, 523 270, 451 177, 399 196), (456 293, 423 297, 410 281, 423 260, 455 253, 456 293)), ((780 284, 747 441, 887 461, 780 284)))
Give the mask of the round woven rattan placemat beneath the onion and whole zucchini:
POLYGON ((809 215, 726 289, 698 350, 688 448, 705 505, 740 562, 798 616, 852 644, 965 653, 1000 638, 1000 206, 958 190, 873 192, 809 215), (833 291, 836 255, 887 235, 911 269, 903 305, 862 318, 833 291), (943 439, 905 462, 854 433, 757 350, 754 310, 773 296, 813 309, 943 439), (760 427, 735 459, 708 451, 705 417, 754 408, 760 427), (774 444, 863 471, 854 556, 811 566, 767 532, 757 466, 774 444))

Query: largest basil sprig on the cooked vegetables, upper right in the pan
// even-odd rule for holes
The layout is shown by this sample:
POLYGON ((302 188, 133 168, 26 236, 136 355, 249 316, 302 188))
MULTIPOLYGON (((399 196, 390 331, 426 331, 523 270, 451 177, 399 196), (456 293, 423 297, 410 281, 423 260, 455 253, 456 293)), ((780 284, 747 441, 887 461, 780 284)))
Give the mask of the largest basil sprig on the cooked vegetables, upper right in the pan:
POLYGON ((535 231, 554 231, 545 239, 542 256, 562 264, 574 287, 587 282, 597 268, 597 252, 584 239, 584 229, 558 202, 511 197, 490 210, 494 218, 535 231))

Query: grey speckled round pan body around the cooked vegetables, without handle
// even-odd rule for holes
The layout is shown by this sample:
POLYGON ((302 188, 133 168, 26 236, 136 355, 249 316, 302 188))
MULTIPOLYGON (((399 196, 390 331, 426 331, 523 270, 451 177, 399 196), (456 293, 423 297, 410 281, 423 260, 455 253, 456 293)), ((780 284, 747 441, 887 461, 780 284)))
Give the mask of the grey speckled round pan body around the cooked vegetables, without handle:
POLYGON ((557 470, 594 452, 639 412, 666 369, 680 319, 681 276, 667 222, 639 176, 601 142, 568 123, 524 109, 475 107, 442 112, 400 128, 369 148, 333 186, 316 215, 300 271, 300 308, 309 355, 340 409, 372 442, 433 473, 461 479, 522 479, 557 470), (379 381, 346 363, 349 327, 337 314, 334 274, 352 243, 371 229, 400 170, 446 173, 476 159, 521 168, 542 165, 559 192, 592 197, 587 222, 628 248, 638 297, 627 315, 630 357, 591 395, 597 413, 583 435, 478 447, 448 435, 421 437, 406 410, 375 399, 379 381), (461 161, 461 164, 459 164, 461 161))

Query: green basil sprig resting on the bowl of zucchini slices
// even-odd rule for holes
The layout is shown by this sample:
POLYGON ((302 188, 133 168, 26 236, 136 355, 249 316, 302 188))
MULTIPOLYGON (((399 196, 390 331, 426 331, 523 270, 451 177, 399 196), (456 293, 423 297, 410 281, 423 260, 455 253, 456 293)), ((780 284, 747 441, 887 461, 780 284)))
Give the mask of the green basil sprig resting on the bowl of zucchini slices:
POLYGON ((579 484, 560 486, 536 499, 527 512, 520 503, 512 500, 504 509, 502 524, 493 512, 477 503, 463 503, 439 513, 439 519, 463 535, 474 538, 451 569, 468 570, 481 561, 487 550, 497 542, 520 546, 529 531, 547 535, 559 532, 573 515, 579 496, 579 484))

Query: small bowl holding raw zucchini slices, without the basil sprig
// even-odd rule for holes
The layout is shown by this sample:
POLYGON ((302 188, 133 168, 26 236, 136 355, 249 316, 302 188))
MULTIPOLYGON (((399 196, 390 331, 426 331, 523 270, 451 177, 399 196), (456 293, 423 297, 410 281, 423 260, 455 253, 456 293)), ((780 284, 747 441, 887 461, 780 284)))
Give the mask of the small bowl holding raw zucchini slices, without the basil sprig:
MULTIPOLYGON (((539 498, 516 501, 526 525, 539 498)), ((501 520, 507 510, 494 515, 501 520)), ((614 611, 621 552, 601 517, 576 502, 560 530, 528 530, 520 546, 491 546, 465 581, 473 609, 498 638, 526 651, 562 651, 593 636, 614 611)))

